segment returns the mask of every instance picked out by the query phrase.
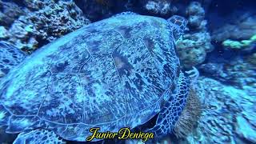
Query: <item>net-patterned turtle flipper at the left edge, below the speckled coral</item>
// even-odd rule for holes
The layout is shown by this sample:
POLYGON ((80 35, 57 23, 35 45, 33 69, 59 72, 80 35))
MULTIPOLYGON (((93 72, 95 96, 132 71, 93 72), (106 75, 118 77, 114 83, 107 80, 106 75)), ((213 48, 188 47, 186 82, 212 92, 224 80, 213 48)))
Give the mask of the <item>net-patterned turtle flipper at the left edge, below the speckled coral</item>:
POLYGON ((10 69, 17 66, 26 55, 22 50, 6 42, 0 42, 0 78, 9 73, 10 69))

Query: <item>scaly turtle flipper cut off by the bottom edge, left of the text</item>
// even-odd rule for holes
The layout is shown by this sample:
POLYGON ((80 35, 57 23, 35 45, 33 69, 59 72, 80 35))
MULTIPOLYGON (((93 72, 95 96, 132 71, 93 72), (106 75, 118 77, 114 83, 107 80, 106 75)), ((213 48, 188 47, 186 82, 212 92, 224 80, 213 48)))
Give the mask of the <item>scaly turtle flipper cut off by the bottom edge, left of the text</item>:
POLYGON ((29 132, 22 132, 18 134, 18 138, 15 139, 14 144, 25 144, 25 143, 65 143, 61 138, 58 137, 53 131, 38 129, 29 132))

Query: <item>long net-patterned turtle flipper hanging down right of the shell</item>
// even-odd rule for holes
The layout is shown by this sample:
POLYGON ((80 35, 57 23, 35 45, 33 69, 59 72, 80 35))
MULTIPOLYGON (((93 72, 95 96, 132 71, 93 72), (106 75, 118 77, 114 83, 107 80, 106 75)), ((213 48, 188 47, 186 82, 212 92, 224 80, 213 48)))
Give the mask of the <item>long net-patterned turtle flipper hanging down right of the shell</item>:
POLYGON ((174 126, 186 105, 189 84, 182 72, 179 74, 177 88, 177 93, 174 94, 174 97, 170 98, 169 102, 166 103, 166 106, 158 114, 156 125, 148 130, 154 132, 158 137, 173 133, 174 126))

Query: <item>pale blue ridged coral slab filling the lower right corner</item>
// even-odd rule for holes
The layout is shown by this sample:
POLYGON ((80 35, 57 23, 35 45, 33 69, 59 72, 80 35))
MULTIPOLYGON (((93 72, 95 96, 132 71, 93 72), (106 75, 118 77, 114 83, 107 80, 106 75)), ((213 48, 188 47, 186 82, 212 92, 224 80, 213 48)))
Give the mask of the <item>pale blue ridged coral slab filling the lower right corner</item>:
POLYGON ((255 143, 256 89, 239 90, 201 77, 198 95, 203 103, 198 128, 187 141, 200 143, 255 143))

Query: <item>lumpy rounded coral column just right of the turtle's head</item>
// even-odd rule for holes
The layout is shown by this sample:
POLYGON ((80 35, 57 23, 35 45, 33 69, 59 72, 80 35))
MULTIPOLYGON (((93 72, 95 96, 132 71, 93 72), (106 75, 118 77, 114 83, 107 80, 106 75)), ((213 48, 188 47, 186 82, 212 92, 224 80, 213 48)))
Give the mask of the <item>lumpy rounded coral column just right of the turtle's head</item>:
POLYGON ((191 68, 204 62, 206 53, 214 50, 210 34, 206 30, 205 11, 199 2, 191 2, 186 9, 190 32, 177 42, 177 51, 182 66, 191 68))

